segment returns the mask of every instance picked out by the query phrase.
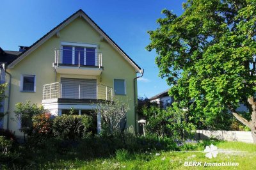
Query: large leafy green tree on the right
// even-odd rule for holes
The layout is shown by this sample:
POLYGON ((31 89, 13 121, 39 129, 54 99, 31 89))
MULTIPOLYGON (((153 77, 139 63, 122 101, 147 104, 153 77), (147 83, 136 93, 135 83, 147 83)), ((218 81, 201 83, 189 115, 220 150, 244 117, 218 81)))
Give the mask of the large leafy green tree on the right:
POLYGON ((159 27, 148 31, 147 50, 158 54, 159 75, 181 107, 210 117, 228 109, 250 127, 256 143, 256 1, 188 0, 183 8, 179 17, 163 10, 159 27), (240 104, 248 106, 250 119, 236 112, 240 104))

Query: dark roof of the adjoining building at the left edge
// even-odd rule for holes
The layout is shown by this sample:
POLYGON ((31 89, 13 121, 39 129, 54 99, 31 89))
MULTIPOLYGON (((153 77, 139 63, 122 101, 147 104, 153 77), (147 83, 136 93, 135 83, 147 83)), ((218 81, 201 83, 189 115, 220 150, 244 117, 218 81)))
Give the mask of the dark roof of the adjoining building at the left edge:
POLYGON ((10 64, 18 58, 19 54, 19 51, 3 50, 0 47, 0 63, 10 64))

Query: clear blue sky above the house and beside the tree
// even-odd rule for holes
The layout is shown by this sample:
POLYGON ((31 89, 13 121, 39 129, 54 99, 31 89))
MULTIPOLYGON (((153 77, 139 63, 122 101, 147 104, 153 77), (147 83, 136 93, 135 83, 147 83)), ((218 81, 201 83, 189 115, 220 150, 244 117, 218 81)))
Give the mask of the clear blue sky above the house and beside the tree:
POLYGON ((138 81, 138 95, 152 97, 168 89, 158 77, 156 52, 148 52, 148 30, 157 28, 156 20, 164 17, 161 10, 180 15, 185 0, 73 0, 12 1, 1 0, 0 47, 18 50, 30 46, 53 27, 80 8, 87 13, 131 58, 144 68, 138 81))

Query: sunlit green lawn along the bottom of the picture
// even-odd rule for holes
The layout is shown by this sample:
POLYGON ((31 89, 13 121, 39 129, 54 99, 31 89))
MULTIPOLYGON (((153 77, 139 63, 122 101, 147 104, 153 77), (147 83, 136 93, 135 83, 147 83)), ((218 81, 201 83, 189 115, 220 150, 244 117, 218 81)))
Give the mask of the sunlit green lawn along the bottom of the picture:
MULTIPOLYGON (((108 158, 81 160, 68 155, 56 157, 41 164, 42 169, 203 169, 204 166, 186 167, 184 162, 234 162, 237 167, 207 167, 207 169, 256 169, 256 145, 239 142, 210 141, 219 151, 248 151, 246 153, 218 153, 216 158, 207 158, 205 153, 182 153, 172 151, 151 151, 128 153, 118 150, 108 158)), ((209 144, 210 144, 209 143, 209 144)), ((204 151, 204 144, 196 144, 193 151, 204 151)), ((35 162, 36 164, 36 162, 35 162)))

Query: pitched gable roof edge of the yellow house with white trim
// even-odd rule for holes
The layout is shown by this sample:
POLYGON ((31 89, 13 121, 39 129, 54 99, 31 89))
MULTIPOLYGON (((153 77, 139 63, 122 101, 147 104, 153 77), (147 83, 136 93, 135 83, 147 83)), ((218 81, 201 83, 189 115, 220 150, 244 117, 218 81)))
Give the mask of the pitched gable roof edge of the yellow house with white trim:
POLYGON ((73 13, 70 17, 63 20, 58 26, 54 27, 51 31, 49 31, 47 34, 42 36, 39 40, 37 40, 35 43, 33 43, 28 49, 24 50, 21 54, 19 54, 18 58, 15 59, 10 65, 8 65, 9 68, 13 68, 19 61, 21 61, 23 58, 28 56, 30 52, 35 50, 37 47, 39 47, 42 43, 44 43, 46 40, 51 38, 53 35, 55 35, 58 31, 60 31, 63 27, 67 26, 70 22, 72 22, 77 17, 83 17, 98 33, 104 37, 104 39, 110 43, 114 49, 116 49, 120 54, 127 60, 136 70, 136 72, 142 73, 143 70, 138 66, 125 52, 122 50, 86 13, 83 12, 83 10, 78 10, 77 12, 73 13))

